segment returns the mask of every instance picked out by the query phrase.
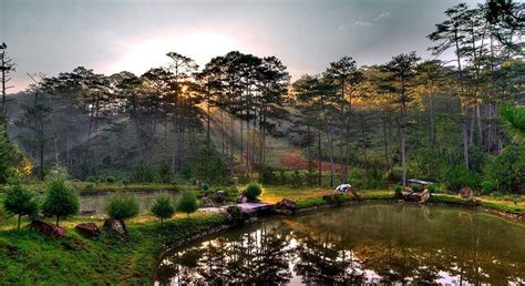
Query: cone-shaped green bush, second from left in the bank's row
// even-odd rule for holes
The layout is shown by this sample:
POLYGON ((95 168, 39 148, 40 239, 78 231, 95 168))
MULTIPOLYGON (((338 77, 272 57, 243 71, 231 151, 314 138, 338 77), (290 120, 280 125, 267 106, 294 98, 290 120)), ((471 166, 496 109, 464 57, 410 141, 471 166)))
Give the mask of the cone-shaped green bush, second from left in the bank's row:
POLYGON ((47 216, 56 217, 56 226, 61 217, 74 215, 80 208, 79 194, 66 177, 65 171, 55 168, 48 177, 45 186, 42 211, 47 216))

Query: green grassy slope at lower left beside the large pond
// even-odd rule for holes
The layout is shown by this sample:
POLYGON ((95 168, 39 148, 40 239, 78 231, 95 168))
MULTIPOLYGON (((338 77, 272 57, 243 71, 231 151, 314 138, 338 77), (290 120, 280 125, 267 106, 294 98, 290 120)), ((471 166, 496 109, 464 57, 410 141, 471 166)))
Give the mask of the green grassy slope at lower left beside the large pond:
MULTIPOLYGON (((85 238, 72 227, 68 237, 48 239, 33 229, 0 232, 2 284, 151 284, 155 259, 166 245, 224 223, 220 215, 177 216, 130 223, 130 238, 85 238)), ((101 225, 101 223, 99 224, 101 225)))

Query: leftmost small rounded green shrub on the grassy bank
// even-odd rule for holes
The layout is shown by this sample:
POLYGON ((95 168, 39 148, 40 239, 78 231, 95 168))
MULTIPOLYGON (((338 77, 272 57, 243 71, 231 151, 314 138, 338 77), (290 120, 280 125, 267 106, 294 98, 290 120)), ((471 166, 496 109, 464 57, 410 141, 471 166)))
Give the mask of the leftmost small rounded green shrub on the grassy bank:
POLYGON ((23 215, 33 216, 39 211, 37 196, 23 185, 11 185, 7 187, 3 207, 8 214, 18 215, 17 229, 20 229, 20 218, 23 215))

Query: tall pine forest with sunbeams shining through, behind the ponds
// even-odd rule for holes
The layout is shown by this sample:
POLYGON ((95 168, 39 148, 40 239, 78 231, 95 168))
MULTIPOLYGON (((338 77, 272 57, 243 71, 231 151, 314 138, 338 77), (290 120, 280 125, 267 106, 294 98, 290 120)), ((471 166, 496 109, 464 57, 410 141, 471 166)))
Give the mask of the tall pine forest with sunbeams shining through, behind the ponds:
MULTIPOLYGON (((523 11, 512 1, 457 4, 429 31, 429 59, 406 51, 360 65, 349 55, 294 82, 276 57, 239 51, 203 67, 174 51, 169 65, 142 75, 34 74, 25 92, 2 84, 2 114, 41 180, 53 164, 87 181, 300 168, 305 181, 331 186, 419 177, 525 192, 523 133, 502 121, 525 103, 523 11), (446 51, 455 58, 439 60, 446 51)), ((1 51, 6 81, 17 59, 1 51)))

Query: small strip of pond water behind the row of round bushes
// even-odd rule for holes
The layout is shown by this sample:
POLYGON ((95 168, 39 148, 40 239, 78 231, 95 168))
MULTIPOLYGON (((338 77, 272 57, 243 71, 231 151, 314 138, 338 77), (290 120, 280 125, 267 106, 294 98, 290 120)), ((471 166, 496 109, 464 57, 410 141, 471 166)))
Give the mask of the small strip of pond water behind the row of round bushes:
MULTIPOLYGON (((89 195, 81 195, 80 196, 80 210, 81 211, 94 211, 94 214, 89 214, 89 215, 95 215, 95 216, 103 216, 104 215, 104 208, 105 204, 107 201, 112 197, 115 196, 120 193, 115 192, 106 192, 106 193, 97 193, 97 194, 89 194, 89 195)), ((169 191, 147 191, 147 192, 137 192, 137 191, 130 191, 130 192, 123 192, 126 194, 131 194, 136 196, 138 200, 138 204, 141 206, 141 213, 148 213, 150 212, 150 205, 152 204, 153 200, 159 195, 159 194, 168 194, 173 196, 173 200, 176 200, 178 196, 178 192, 169 192, 169 191)))

